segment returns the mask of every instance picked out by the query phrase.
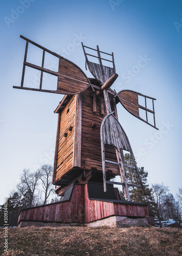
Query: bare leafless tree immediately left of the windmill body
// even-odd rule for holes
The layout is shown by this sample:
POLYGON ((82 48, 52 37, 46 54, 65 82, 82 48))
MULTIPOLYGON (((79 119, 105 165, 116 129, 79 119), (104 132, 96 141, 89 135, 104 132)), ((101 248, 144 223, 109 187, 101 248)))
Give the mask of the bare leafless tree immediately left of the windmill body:
POLYGON ((53 167, 50 164, 43 164, 40 169, 40 180, 42 181, 42 188, 44 193, 43 204, 46 204, 49 196, 54 191, 52 185, 53 167))

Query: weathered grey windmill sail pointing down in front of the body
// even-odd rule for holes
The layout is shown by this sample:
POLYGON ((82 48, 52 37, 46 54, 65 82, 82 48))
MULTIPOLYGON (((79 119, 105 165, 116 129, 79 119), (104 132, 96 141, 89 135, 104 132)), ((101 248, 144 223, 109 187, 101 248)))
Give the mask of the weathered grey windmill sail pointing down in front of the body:
POLYGON ((111 112, 105 116, 105 118, 102 121, 101 129, 100 129, 104 191, 106 191, 106 183, 109 183, 106 181, 105 163, 116 164, 119 166, 120 175, 122 179, 122 183, 116 182, 116 184, 120 184, 124 186, 126 198, 128 199, 128 201, 130 201, 128 186, 142 187, 144 193, 145 193, 145 188, 143 186, 128 137, 126 136, 126 133, 124 132, 123 127, 121 126, 117 118, 113 115, 113 113, 114 112, 111 112), (118 162, 112 162, 105 159, 105 150, 104 150, 105 144, 115 147, 118 162), (134 166, 127 166, 124 164, 123 150, 130 152, 134 166), (136 170, 139 176, 141 185, 127 183, 127 180, 125 177, 125 166, 129 168, 134 168, 136 170))

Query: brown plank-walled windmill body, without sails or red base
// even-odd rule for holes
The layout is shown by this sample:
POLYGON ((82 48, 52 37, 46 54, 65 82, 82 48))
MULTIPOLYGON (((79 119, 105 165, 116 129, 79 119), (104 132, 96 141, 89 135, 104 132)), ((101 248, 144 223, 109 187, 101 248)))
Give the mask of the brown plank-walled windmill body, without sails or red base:
MULTIPOLYGON (((92 83, 94 81, 92 80, 92 83)), ((95 83, 97 83, 95 81, 95 83)), ((96 89, 100 87, 93 85, 96 89)), ((111 110, 116 109, 110 91, 111 110)), ((58 130, 54 162, 53 183, 58 186, 69 186, 72 182, 79 184, 85 181, 102 182, 102 154, 100 128, 107 115, 103 95, 94 99, 93 90, 89 87, 84 92, 65 96, 55 113, 58 113, 58 130), (69 130, 70 129, 70 130, 69 130)), ((106 147, 106 158, 117 161, 115 148, 106 147)), ((120 175, 117 165, 107 164, 107 179, 120 175)), ((64 189, 58 188, 59 194, 64 189)))

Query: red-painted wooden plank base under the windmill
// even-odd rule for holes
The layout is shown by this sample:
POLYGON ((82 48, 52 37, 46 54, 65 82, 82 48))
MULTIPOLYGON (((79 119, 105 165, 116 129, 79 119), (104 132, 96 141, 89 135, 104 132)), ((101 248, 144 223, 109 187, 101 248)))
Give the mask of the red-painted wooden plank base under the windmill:
POLYGON ((64 201, 22 209, 19 214, 20 222, 57 222, 57 223, 89 223, 110 216, 125 216, 130 218, 146 218, 149 224, 147 204, 125 202, 116 198, 90 199, 88 184, 73 185, 64 194, 64 201))

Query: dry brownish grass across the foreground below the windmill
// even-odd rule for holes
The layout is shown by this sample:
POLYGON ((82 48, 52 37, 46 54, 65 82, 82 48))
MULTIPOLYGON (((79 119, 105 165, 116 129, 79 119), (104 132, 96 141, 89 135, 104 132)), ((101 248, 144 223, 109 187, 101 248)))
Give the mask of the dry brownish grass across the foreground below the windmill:
POLYGON ((1 255, 182 255, 182 229, 24 227, 0 229, 1 255))

